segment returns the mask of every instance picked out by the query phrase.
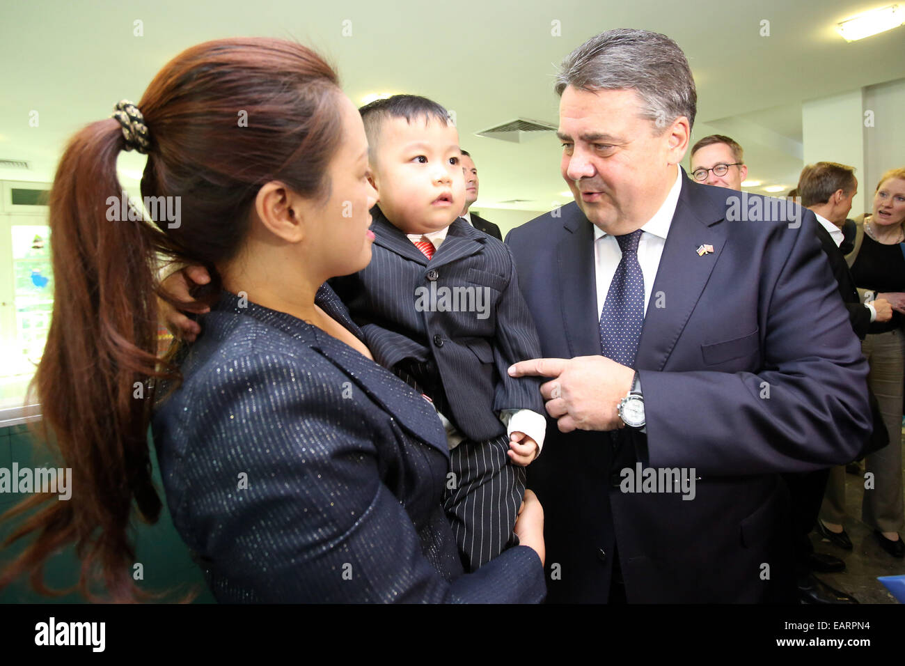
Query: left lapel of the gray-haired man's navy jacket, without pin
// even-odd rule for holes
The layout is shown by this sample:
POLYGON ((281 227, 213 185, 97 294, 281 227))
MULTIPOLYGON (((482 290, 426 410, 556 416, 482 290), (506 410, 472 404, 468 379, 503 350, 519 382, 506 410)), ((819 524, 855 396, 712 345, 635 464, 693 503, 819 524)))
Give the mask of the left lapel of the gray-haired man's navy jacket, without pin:
POLYGON ((576 203, 561 208, 564 233, 557 246, 558 294, 571 356, 600 354, 594 225, 576 203))

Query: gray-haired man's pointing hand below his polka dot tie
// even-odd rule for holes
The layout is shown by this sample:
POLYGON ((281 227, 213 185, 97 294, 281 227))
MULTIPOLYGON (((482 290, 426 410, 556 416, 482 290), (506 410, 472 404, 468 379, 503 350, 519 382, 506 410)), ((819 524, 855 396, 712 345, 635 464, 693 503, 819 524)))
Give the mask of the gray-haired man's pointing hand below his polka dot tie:
POLYGON ((547 413, 561 432, 616 430, 625 424, 616 407, 632 390, 634 371, 605 356, 531 359, 509 369, 511 377, 551 377, 540 386, 547 413))

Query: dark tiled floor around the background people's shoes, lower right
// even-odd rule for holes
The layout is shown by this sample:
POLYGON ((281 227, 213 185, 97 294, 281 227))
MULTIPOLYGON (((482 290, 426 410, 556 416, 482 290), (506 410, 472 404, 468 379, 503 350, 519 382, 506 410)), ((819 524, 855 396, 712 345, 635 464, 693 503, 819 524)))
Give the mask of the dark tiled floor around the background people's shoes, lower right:
MULTIPOLYGON (((837 590, 852 594, 861 603, 896 603, 877 576, 905 574, 905 559, 896 559, 883 550, 873 536, 872 527, 861 522, 863 494, 863 477, 846 474, 845 513, 848 520, 845 531, 852 539, 852 551, 824 541, 816 532, 811 533, 811 543, 817 552, 842 557, 846 565, 842 574, 818 574, 817 577, 837 590)), ((900 536, 905 535, 900 532, 900 536)))

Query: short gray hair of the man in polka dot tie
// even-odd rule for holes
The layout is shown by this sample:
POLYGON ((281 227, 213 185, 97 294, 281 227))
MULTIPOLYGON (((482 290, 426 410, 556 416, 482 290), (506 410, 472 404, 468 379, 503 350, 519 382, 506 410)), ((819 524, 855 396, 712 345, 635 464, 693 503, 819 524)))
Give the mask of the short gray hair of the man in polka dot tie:
POLYGON ((685 116, 694 125, 698 93, 685 53, 665 34, 619 28, 591 37, 569 53, 557 73, 557 95, 567 86, 583 91, 638 93, 642 117, 658 130, 685 116))

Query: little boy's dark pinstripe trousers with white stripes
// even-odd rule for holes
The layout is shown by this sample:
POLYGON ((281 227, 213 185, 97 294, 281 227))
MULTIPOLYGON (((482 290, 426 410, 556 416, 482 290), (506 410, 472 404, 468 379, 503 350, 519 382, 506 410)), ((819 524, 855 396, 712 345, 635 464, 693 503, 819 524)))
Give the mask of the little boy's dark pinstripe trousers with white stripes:
MULTIPOLYGON (((452 413, 432 361, 407 359, 393 372, 428 396, 444 417, 452 413)), ((466 438, 450 450, 452 476, 443 494, 443 510, 468 573, 518 545, 512 528, 525 497, 526 476, 525 468, 510 462, 507 451, 505 433, 480 442, 466 438)))

